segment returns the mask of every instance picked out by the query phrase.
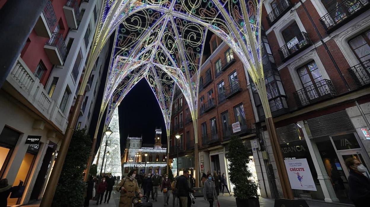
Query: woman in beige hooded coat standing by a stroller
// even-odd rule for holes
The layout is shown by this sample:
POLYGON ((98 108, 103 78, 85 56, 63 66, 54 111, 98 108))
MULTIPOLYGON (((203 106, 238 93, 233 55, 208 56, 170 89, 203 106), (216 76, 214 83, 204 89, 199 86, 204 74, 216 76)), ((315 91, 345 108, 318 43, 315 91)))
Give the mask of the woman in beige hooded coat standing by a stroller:
POLYGON ((135 179, 136 176, 136 169, 132 169, 128 175, 123 178, 116 187, 117 191, 120 191, 120 205, 119 207, 131 207, 132 206, 132 198, 135 197, 135 193, 139 195, 141 198, 143 195, 140 192, 140 188, 138 185, 137 180, 135 179))

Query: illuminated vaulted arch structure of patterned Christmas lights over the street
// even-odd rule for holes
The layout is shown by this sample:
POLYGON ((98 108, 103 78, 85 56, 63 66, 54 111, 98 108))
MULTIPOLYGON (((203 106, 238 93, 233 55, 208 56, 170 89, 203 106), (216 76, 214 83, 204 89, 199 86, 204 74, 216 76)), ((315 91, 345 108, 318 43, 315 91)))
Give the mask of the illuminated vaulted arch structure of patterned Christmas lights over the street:
POLYGON ((271 117, 261 61, 260 16, 261 0, 105 0, 87 64, 90 73, 117 29, 99 122, 107 109, 107 126, 128 91, 145 78, 161 106, 167 133, 175 84, 185 96, 197 131, 199 74, 208 30, 239 56, 259 91, 266 117, 271 117))

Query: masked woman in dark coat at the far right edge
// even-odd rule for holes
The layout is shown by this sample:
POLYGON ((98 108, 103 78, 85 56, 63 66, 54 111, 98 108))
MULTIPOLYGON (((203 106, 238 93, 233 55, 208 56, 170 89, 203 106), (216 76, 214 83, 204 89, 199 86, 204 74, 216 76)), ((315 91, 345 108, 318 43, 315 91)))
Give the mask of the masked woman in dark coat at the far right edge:
POLYGON ((370 200, 370 180, 363 173, 366 167, 356 158, 346 159, 346 166, 349 169, 349 197, 356 207, 369 206, 370 200))

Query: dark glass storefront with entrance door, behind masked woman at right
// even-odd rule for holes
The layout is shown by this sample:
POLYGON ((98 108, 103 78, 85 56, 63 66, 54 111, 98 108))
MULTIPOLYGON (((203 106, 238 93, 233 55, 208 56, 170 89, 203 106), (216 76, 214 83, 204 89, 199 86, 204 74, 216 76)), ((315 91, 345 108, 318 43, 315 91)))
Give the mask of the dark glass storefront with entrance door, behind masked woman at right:
MULTIPOLYGON (((345 160, 354 157, 364 166, 369 166, 369 157, 361 149, 356 135, 355 133, 348 133, 314 139, 340 203, 351 203, 348 195, 349 185, 347 180, 349 170, 344 163, 345 160)), ((364 175, 369 177, 369 171, 364 173, 364 175)))

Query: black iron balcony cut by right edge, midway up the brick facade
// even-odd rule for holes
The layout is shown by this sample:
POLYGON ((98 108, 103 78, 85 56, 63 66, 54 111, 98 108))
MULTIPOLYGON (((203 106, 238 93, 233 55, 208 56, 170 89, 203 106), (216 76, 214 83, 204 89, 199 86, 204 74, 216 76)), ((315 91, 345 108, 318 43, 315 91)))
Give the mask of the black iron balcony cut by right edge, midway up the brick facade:
POLYGON ((358 86, 370 83, 370 60, 366 60, 348 69, 358 86))

